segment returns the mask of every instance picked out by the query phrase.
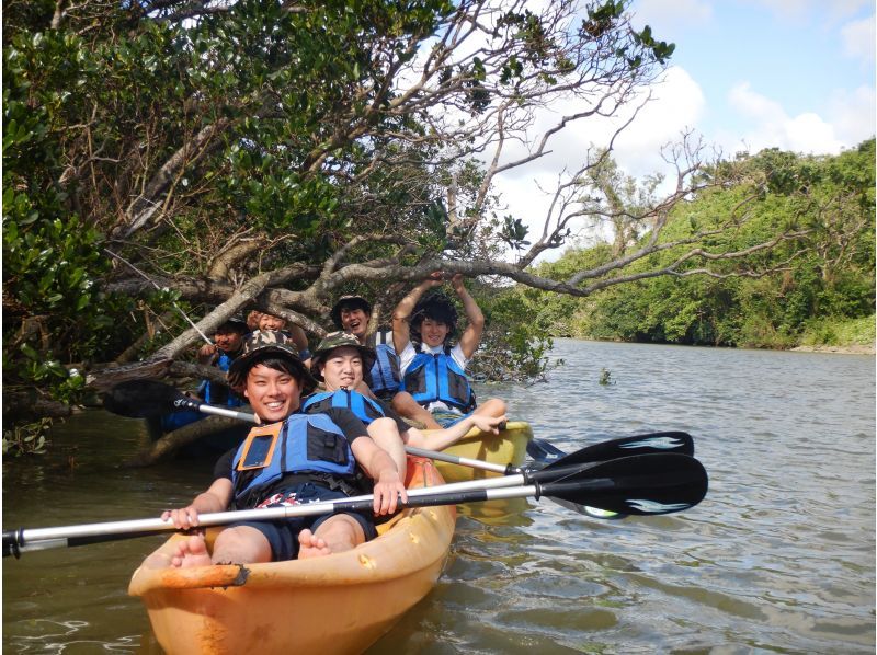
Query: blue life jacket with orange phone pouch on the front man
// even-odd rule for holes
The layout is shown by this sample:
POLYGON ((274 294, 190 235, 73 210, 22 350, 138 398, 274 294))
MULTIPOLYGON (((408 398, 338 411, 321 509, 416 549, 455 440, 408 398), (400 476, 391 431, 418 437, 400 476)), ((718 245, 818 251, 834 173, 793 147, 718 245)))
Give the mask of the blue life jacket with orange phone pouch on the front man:
MULTIPOLYGON (((231 483, 237 507, 255 506, 262 494, 287 474, 315 473, 316 479, 340 478, 355 483, 356 461, 344 433, 326 414, 293 414, 278 428, 266 466, 238 470, 253 428, 238 447, 231 466, 231 483)), ((261 432, 264 432, 262 429, 261 432)), ((260 437, 265 438, 265 437, 260 437)), ((267 460, 267 455, 265 455, 267 460)), ((246 462, 244 462, 246 463, 246 462)))

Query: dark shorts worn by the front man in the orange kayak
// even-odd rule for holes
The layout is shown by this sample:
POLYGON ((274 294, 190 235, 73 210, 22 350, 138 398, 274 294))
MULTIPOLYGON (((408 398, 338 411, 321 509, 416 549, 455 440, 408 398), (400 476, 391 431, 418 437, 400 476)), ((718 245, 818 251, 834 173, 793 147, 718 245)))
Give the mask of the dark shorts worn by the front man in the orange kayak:
MULTIPOLYGON (((312 482, 305 482, 291 486, 282 492, 284 495, 295 494, 298 503, 309 503, 314 501, 337 501, 339 498, 346 498, 340 490, 330 490, 322 485, 312 482)), ((280 504, 266 505, 266 507, 280 507, 280 504)), ((340 512, 358 522, 363 532, 365 532, 365 540, 369 541, 377 537, 375 530, 374 517, 371 513, 358 512, 340 512)), ((285 560, 294 560, 298 555, 298 533, 305 528, 316 531, 322 524, 335 516, 334 514, 322 514, 316 516, 294 516, 291 518, 281 518, 277 520, 248 520, 230 524, 228 527, 235 528, 238 526, 247 526, 255 528, 267 539, 271 544, 271 559, 274 562, 282 562, 285 560)))

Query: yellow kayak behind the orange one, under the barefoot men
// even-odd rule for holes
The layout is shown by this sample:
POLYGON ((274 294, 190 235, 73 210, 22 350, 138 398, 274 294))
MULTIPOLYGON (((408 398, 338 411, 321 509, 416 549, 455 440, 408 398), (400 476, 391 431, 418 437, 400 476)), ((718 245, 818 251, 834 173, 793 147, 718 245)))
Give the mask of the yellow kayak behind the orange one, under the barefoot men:
MULTIPOLYGON (((424 432, 429 433, 429 430, 424 432)), ((493 464, 511 463, 520 467, 527 455, 527 443, 532 438, 533 429, 529 427, 529 423, 510 421, 499 435, 483 433, 474 427, 459 441, 445 448, 443 452, 456 457, 480 459, 493 464)), ((446 462, 437 461, 435 464, 442 478, 447 482, 481 480, 500 474, 446 462)))

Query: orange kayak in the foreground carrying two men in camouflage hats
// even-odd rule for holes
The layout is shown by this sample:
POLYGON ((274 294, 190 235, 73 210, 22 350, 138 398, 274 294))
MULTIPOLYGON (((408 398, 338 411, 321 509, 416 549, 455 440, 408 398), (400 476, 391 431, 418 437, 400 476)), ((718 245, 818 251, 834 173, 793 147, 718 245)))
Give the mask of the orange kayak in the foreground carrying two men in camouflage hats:
MULTIPOLYGON (((443 483, 431 461, 409 458, 409 489, 443 483)), ((455 520, 453 506, 409 508, 376 539, 324 558, 151 567, 184 538, 174 535, 134 572, 128 594, 143 598, 169 655, 361 653, 434 587, 455 520)))

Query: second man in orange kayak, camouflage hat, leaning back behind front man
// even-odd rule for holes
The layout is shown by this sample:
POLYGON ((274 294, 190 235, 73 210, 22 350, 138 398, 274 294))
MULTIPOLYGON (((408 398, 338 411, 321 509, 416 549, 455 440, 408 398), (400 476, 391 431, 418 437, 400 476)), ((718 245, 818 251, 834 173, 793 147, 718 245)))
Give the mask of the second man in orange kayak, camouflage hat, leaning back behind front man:
POLYGON ((422 432, 406 423, 386 401, 373 399, 356 391, 364 379, 367 382, 375 352, 360 344, 345 332, 327 334, 314 352, 311 372, 321 380, 326 391, 306 398, 303 412, 323 412, 328 407, 350 409, 368 428, 368 435, 386 450, 399 471, 406 468, 405 446, 442 450, 462 438, 472 427, 499 434, 505 416, 471 414, 444 429, 422 432))

